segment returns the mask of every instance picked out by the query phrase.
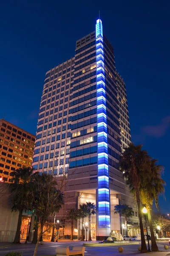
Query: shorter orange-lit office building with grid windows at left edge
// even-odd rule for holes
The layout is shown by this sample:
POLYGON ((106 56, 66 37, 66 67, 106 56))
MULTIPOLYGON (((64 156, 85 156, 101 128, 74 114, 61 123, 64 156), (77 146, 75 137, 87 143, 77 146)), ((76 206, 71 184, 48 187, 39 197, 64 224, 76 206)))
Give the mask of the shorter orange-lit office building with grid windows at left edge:
POLYGON ((0 119, 0 180, 12 182, 11 172, 31 167, 35 136, 0 119))

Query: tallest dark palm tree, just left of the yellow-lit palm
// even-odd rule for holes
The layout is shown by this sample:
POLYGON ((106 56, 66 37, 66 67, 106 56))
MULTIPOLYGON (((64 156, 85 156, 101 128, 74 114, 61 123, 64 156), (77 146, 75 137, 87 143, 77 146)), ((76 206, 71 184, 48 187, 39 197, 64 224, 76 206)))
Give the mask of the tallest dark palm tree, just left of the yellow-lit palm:
POLYGON ((141 231, 141 252, 147 252, 144 239, 144 230, 142 224, 140 186, 144 177, 149 176, 146 171, 146 163, 148 161, 147 151, 142 150, 142 145, 134 145, 130 143, 128 148, 124 148, 124 152, 120 156, 119 164, 123 172, 125 183, 134 193, 138 205, 139 225, 141 231))

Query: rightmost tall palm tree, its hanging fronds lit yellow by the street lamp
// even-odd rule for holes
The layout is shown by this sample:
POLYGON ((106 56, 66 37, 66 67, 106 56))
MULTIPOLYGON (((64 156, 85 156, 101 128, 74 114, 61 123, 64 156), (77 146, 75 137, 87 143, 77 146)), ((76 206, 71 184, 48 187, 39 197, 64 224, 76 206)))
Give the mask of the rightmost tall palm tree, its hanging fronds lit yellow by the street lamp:
POLYGON ((151 250, 153 252, 158 251, 158 246, 156 244, 151 218, 152 204, 153 200, 155 199, 156 208, 159 208, 159 195, 164 194, 165 185, 165 181, 161 178, 163 166, 156 165, 156 162, 156 159, 150 159, 148 161, 148 171, 150 172, 150 177, 143 180, 140 191, 142 204, 144 204, 147 208, 147 216, 151 235, 151 250))

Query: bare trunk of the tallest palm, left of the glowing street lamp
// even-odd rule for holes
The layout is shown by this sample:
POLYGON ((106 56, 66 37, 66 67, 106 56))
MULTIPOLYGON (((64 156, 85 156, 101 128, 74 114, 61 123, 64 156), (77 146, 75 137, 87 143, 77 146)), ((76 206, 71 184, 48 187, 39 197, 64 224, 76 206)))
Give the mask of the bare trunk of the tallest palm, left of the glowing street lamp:
POLYGON ((141 202, 139 197, 139 191, 136 190, 136 201, 138 204, 138 215, 139 215, 139 226, 141 231, 141 253, 147 252, 147 246, 144 239, 144 230, 143 230, 143 224, 142 224, 142 214, 141 214, 141 202))

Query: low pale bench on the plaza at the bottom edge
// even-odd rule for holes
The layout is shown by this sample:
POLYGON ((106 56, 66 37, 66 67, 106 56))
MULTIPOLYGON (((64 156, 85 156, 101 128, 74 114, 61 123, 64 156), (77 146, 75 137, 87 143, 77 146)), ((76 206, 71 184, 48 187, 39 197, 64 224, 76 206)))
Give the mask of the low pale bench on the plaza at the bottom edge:
POLYGON ((73 250, 70 250, 68 247, 57 247, 56 248, 56 256, 69 256, 69 255, 85 255, 85 247, 84 246, 74 246, 73 250))

